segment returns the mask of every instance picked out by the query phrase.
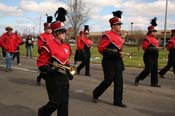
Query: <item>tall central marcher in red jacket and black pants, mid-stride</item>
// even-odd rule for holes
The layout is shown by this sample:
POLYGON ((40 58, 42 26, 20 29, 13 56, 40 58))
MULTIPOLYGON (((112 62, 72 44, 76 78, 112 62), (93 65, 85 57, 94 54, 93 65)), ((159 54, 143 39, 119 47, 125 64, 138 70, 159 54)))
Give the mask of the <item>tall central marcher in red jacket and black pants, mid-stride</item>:
POLYGON ((93 102, 97 103, 98 98, 104 91, 114 83, 113 105, 126 108, 123 103, 123 59, 122 47, 124 40, 120 36, 121 11, 113 12, 114 17, 109 20, 111 30, 106 31, 98 45, 98 51, 103 55, 102 67, 104 80, 93 90, 93 102))

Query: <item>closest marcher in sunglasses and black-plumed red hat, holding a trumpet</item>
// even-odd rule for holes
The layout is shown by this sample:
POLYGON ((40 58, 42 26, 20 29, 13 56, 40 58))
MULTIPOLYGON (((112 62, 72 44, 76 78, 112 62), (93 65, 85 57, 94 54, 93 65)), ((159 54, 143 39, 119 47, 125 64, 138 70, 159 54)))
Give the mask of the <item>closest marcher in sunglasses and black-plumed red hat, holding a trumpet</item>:
MULTIPOLYGON (((64 8, 58 10, 59 16, 67 14, 64 8)), ((51 23, 54 39, 42 46, 37 60, 38 67, 46 74, 45 82, 49 97, 49 102, 39 108, 38 116, 51 116, 55 110, 57 116, 68 116, 69 79, 72 79, 72 75, 68 70, 64 72, 60 70, 61 67, 55 66, 69 66, 69 57, 72 53, 71 47, 63 42, 66 37, 64 21, 64 17, 57 17, 57 20, 51 23)))

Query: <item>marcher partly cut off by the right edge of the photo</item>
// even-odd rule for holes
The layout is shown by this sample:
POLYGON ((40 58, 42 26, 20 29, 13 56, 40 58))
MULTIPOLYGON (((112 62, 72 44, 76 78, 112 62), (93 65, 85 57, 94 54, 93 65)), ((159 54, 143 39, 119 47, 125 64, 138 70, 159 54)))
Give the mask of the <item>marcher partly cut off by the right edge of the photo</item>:
POLYGON ((169 51, 167 65, 159 72, 161 78, 164 78, 165 73, 170 70, 171 67, 173 67, 173 73, 175 75, 175 29, 171 30, 171 37, 171 40, 169 40, 167 44, 169 51))

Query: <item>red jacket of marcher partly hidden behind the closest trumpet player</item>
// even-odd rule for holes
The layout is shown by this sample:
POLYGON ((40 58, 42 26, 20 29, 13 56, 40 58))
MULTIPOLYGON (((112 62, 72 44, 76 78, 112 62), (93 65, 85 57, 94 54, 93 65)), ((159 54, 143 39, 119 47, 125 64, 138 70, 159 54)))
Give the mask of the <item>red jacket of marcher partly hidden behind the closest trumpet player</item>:
POLYGON ((38 49, 40 49, 41 46, 42 46, 44 43, 47 43, 47 41, 50 41, 50 40, 52 40, 52 39, 54 39, 54 37, 53 37, 53 35, 50 34, 50 33, 44 32, 44 33, 40 34, 39 37, 38 37, 38 43, 37 43, 37 44, 38 44, 38 49))

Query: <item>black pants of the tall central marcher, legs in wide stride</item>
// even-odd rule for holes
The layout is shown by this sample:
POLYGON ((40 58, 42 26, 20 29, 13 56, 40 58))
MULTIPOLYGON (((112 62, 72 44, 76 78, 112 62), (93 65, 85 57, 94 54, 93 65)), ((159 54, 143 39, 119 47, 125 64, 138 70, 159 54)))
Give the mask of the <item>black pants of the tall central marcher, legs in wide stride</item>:
POLYGON ((113 102, 122 103, 123 99, 123 62, 122 59, 115 61, 102 60, 104 80, 94 89, 93 97, 100 97, 104 91, 114 82, 113 102))

